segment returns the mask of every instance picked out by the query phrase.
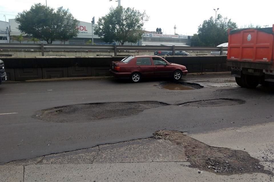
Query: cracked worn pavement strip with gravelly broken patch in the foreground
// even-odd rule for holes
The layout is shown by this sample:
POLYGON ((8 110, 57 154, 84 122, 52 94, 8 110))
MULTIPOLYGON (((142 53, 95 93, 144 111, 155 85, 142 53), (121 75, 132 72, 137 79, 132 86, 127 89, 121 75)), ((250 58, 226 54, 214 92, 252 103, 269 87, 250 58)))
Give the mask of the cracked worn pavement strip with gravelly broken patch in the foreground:
POLYGON ((63 165, 140 162, 189 162, 188 167, 223 175, 273 172, 242 150, 212 147, 178 131, 157 131, 152 138, 50 154, 5 165, 63 165))

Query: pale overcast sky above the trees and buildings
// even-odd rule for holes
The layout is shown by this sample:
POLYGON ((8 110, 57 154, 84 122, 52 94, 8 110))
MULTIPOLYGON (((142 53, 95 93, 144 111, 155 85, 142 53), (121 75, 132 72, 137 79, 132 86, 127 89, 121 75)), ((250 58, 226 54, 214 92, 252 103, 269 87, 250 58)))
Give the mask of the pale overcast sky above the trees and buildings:
MULTIPOLYGON (((29 10, 34 3, 46 3, 46 0, 9 0, 0 4, 0 20, 5 21, 15 18, 18 12, 29 10)), ((110 7, 116 7, 118 2, 109 0, 47 0, 47 5, 53 8, 63 6, 68 8, 75 18, 80 21, 90 22, 95 16, 99 17, 108 13, 110 7)), ((150 20, 144 25, 145 30, 156 31, 162 28, 164 34, 176 33, 193 35, 203 20, 210 16, 215 18, 213 9, 219 8, 217 13, 231 18, 239 27, 254 25, 274 24, 273 0, 121 0, 123 7, 134 7, 140 11, 146 11, 150 20)))

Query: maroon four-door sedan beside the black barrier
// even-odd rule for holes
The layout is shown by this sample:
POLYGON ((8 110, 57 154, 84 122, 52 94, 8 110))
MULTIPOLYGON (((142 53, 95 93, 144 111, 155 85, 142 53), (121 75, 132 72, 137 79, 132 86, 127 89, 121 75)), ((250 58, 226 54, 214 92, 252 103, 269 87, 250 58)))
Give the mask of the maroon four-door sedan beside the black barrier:
POLYGON ((113 61, 110 67, 110 73, 116 78, 130 78, 134 83, 140 82, 142 77, 170 77, 180 80, 183 75, 188 74, 185 66, 150 55, 128 56, 122 61, 113 61))

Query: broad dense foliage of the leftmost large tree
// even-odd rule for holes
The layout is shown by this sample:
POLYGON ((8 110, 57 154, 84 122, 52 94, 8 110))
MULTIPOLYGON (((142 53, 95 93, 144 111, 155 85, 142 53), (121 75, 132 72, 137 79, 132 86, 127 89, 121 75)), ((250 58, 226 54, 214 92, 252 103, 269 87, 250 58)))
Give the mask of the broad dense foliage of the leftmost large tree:
POLYGON ((22 33, 45 40, 48 44, 76 37, 78 30, 75 27, 79 24, 68 9, 59 7, 55 11, 41 3, 31 6, 29 11, 18 13, 15 21, 22 33))

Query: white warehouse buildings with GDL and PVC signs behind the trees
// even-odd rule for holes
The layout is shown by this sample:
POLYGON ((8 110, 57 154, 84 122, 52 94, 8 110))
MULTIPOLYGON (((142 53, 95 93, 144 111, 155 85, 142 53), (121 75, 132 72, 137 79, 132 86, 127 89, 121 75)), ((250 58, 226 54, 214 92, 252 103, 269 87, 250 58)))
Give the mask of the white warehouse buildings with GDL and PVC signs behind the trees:
MULTIPOLYGON (((7 23, 7 27, 10 28, 10 34, 8 37, 10 37, 9 42, 10 43, 19 43, 17 36, 21 34, 21 32, 18 30, 18 24, 15 22, 15 19, 9 19, 9 22, 0 22, 1 26, 5 25, 7 23)), ((97 24, 93 25, 93 29, 98 26, 97 24)), ((78 29, 78 35, 77 37, 71 38, 70 40, 66 41, 65 44, 86 44, 89 40, 92 39, 92 23, 89 22, 82 22, 79 21, 79 26, 76 27, 78 29)), ((2 37, 3 40, 2 43, 8 43, 7 38, 7 29, 3 29, 0 32, 0 38, 2 37), (6 37, 4 36, 6 34, 6 37), (2 35, 2 36, 1 36, 2 35)), ((124 45, 132 45, 132 46, 190 46, 191 36, 186 35, 170 35, 170 34, 163 34, 161 28, 156 28, 156 31, 144 31, 144 34, 142 35, 142 39, 139 40, 137 43, 129 43, 126 42, 124 45)), ((39 40, 38 42, 32 42, 31 37, 28 37, 24 35, 24 40, 21 43, 44 43, 47 44, 44 40, 39 40)), ((108 44, 102 41, 98 36, 93 35, 93 42, 95 44, 108 44)), ((63 41, 54 41, 53 44, 64 44, 63 41)), ((119 45, 118 42, 113 43, 116 45, 119 45)))

